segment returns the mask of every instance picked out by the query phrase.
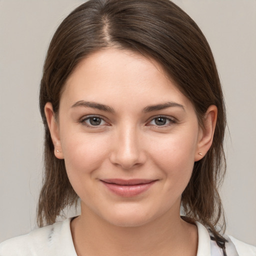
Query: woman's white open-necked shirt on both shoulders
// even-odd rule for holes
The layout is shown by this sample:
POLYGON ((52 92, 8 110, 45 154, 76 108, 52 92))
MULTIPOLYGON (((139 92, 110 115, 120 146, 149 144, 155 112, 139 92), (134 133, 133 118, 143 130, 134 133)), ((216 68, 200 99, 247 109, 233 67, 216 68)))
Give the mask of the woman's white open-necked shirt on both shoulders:
MULTIPOLYGON (((71 219, 67 218, 3 241, 0 243, 0 256, 77 256, 70 230, 71 219)), ((210 239, 207 229, 199 222, 196 222, 196 225, 198 229, 196 256, 223 256, 216 243, 210 239)), ((232 241, 226 243, 227 256, 256 256, 255 246, 231 236, 225 238, 230 238, 232 241)))

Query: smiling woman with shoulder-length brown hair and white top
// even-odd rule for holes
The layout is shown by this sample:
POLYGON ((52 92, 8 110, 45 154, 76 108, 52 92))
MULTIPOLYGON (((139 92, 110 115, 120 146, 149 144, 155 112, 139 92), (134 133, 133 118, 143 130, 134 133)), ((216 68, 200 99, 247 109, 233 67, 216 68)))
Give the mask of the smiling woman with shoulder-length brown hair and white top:
POLYGON ((50 43, 40 111, 38 224, 49 225, 0 255, 255 255, 219 230, 222 91, 203 34, 176 5, 76 8, 50 43), (54 223, 78 198, 81 214, 54 223))

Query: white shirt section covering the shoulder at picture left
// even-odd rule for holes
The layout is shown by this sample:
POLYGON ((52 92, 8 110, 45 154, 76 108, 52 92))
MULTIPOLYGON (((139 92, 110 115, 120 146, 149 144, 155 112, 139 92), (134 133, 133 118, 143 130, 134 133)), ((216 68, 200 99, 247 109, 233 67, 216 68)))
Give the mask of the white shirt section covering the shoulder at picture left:
POLYGON ((73 253, 70 218, 0 243, 0 256, 75 256, 73 253))

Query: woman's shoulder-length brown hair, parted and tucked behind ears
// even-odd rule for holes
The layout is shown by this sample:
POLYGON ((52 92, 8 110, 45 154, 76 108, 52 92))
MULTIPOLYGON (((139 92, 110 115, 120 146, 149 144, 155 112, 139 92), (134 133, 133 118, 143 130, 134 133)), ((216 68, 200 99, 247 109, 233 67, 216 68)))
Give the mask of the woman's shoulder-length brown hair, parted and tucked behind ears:
POLYGON ((57 28, 48 48, 40 84, 40 112, 45 129, 44 180, 39 196, 38 225, 53 223, 67 205, 77 203, 64 160, 54 156, 44 105, 57 115, 61 91, 77 63, 106 47, 130 49, 158 61, 192 102, 199 123, 214 104, 218 115, 212 146, 194 163, 182 193, 185 215, 208 226, 221 246, 216 225, 224 216, 217 191, 225 172, 223 136, 226 125, 221 85, 210 47, 195 22, 169 0, 89 0, 57 28))

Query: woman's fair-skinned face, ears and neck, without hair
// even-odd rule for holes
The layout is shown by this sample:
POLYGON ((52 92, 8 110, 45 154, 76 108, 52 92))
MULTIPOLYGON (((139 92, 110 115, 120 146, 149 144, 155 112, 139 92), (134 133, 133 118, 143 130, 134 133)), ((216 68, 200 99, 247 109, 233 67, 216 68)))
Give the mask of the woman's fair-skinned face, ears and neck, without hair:
POLYGON ((159 64, 109 48, 71 73, 58 117, 49 102, 45 114, 55 156, 81 199, 71 222, 78 256, 196 255, 197 229, 180 218, 180 198, 211 145, 214 105, 201 128, 159 64))

